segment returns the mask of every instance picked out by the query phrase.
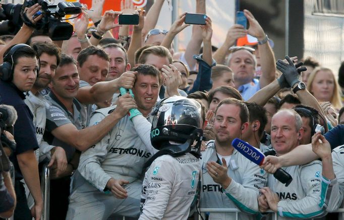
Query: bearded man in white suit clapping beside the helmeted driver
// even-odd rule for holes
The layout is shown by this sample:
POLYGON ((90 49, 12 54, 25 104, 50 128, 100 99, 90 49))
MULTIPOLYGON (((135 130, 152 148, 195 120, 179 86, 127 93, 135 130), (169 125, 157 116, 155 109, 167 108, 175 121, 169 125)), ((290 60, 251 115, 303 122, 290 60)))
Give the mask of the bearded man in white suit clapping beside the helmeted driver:
MULTIPOLYGON (((243 101, 227 98, 215 111, 215 139, 202 153, 202 208, 239 208, 239 219, 258 213, 259 189, 267 174, 232 146, 248 129, 249 111, 243 101)), ((209 219, 232 219, 236 213, 211 213, 209 219)))

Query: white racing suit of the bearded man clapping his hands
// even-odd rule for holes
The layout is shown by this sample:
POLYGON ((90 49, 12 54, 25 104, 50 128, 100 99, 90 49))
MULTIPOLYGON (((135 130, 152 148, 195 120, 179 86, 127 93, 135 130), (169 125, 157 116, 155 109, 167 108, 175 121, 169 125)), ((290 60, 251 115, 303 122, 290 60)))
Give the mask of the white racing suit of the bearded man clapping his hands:
MULTIPOLYGON (((208 174, 208 161, 220 163, 214 140, 207 143, 207 150, 202 153, 201 208, 239 208, 242 211, 239 213, 239 219, 254 219, 254 214, 259 213, 259 189, 266 186, 267 173, 234 150, 227 172, 232 182, 226 189, 222 189, 208 174)), ((210 212, 209 219, 236 219, 236 213, 210 212)))

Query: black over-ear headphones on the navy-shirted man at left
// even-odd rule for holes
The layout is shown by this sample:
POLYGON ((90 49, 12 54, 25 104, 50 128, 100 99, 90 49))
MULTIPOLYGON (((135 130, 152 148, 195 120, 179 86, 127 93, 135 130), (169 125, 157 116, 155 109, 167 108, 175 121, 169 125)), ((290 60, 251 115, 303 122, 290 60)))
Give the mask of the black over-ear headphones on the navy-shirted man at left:
MULTIPOLYGON (((14 64, 14 60, 13 60, 13 55, 16 53, 16 51, 20 48, 23 47, 30 47, 27 44, 17 44, 14 45, 10 51, 4 56, 4 62, 3 64, 0 65, 0 72, 2 73, 1 75, 1 80, 2 81, 12 81, 13 79, 13 64, 14 64)), ((30 47, 31 48, 31 47, 30 47)))

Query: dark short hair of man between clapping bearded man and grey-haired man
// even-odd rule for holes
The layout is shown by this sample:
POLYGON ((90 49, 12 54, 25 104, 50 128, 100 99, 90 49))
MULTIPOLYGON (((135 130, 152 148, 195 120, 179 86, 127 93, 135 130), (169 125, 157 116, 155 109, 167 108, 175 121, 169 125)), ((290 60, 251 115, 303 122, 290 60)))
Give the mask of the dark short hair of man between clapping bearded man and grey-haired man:
POLYGON ((263 106, 257 105, 254 102, 245 102, 245 103, 250 113, 249 121, 253 122, 257 120, 260 123, 259 129, 258 129, 258 136, 260 139, 265 129, 265 125, 267 124, 266 109, 263 106))

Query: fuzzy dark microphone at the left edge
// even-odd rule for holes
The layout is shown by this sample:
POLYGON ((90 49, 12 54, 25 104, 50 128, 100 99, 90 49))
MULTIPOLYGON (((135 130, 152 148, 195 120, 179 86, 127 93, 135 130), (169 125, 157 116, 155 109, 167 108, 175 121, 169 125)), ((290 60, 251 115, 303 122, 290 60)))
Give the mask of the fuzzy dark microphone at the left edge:
POLYGON ((13 125, 18 118, 17 111, 13 106, 0 105, 0 128, 8 130, 13 134, 13 125), (12 132, 11 132, 12 131, 12 132))

